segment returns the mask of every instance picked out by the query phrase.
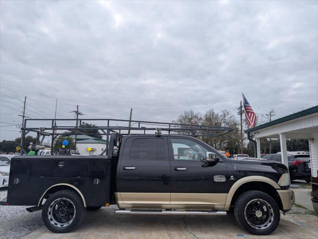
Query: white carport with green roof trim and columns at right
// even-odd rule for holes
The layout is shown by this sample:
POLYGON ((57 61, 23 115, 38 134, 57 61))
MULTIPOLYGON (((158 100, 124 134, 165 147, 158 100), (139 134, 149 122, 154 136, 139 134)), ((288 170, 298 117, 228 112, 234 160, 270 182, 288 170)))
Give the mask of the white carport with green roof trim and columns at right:
POLYGON ((312 176, 318 171, 318 106, 245 130, 255 144, 255 155, 261 157, 261 138, 279 138, 282 163, 288 166, 286 139, 308 139, 312 176), (253 139, 254 137, 254 139, 253 139))

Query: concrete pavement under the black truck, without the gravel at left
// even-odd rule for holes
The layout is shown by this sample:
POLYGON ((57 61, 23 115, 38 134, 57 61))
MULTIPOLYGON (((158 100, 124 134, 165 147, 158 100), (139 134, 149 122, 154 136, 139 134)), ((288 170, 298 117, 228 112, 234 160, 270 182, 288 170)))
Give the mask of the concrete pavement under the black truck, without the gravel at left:
MULTIPOLYGON (((60 239, 42 227, 24 239, 60 239)), ((63 239, 311 239, 318 238, 318 218, 313 215, 282 215, 270 236, 256 237, 243 231, 233 214, 228 216, 115 215, 106 208, 87 212, 83 224, 63 239)))

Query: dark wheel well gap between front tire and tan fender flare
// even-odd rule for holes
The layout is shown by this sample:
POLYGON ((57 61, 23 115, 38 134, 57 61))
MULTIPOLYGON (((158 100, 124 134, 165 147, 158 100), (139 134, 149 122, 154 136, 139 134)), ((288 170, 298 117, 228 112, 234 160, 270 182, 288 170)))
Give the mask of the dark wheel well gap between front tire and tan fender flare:
POLYGON ((283 210, 283 204, 280 198, 280 195, 278 194, 277 190, 270 184, 265 182, 248 182, 243 185, 241 185, 234 193, 230 207, 233 207, 238 197, 249 190, 257 190, 261 191, 263 193, 267 193, 270 195, 278 204, 279 208, 283 210))

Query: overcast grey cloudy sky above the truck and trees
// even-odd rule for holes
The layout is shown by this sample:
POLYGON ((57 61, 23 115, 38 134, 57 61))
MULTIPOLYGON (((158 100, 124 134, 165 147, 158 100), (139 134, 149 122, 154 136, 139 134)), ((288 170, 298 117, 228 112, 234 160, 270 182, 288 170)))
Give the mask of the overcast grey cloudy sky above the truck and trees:
MULTIPOLYGON (((0 140, 26 116, 168 121, 318 104, 318 1, 0 1, 0 140)), ((46 125, 43 125, 46 126, 46 125)))

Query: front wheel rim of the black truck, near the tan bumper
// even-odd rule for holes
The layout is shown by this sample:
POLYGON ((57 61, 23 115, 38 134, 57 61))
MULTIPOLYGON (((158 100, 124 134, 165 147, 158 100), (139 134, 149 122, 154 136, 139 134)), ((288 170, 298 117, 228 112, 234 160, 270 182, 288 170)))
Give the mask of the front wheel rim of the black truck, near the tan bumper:
POLYGON ((251 227, 266 229, 273 223, 274 210, 266 200, 253 199, 245 206, 244 216, 251 227))

